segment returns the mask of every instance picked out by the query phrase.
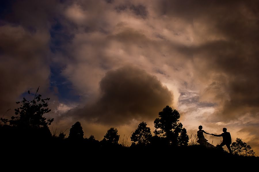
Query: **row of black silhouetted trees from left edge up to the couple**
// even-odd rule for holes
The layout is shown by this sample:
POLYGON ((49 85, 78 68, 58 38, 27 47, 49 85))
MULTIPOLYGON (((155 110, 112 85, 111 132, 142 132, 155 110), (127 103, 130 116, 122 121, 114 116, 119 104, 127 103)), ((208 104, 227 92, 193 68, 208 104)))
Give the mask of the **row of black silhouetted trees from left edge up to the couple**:
MULTIPOLYGON (((38 92, 39 89, 37 89, 38 92)), ((20 107, 15 109, 15 116, 11 119, 1 118, 0 132, 1 138, 6 142, 14 140, 33 141, 41 140, 66 140, 66 142, 87 142, 91 145, 98 146, 125 146, 119 144, 118 130, 116 128, 108 129, 104 138, 99 142, 93 135, 89 138, 84 138, 83 128, 79 121, 77 121, 70 128, 69 135, 66 137, 64 132, 59 134, 51 133, 49 125, 54 119, 46 119, 43 115, 50 112, 47 108, 47 101, 49 98, 41 98, 40 94, 31 93, 33 100, 26 100, 23 98, 20 107)), ((138 125, 138 128, 132 133, 130 139, 132 146, 148 146, 148 145, 170 145, 170 146, 187 146, 188 135, 186 129, 179 123, 180 114, 176 109, 170 106, 165 106, 161 112, 158 113, 158 118, 155 119, 155 136, 152 136, 151 129, 143 121, 138 125)))

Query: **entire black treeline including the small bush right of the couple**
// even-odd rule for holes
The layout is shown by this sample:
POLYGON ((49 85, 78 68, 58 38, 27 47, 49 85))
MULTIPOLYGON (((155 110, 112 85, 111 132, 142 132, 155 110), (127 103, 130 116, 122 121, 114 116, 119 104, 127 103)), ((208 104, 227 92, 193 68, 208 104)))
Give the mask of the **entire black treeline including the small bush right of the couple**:
MULTIPOLYGON (((28 91, 29 94, 34 96, 33 100, 23 98, 21 102, 16 102, 20 104, 20 107, 15 109, 15 116, 12 116, 11 119, 0 118, 1 148, 5 147, 12 150, 22 150, 21 147, 35 148, 36 150, 46 148, 44 149, 45 151, 47 151, 47 148, 53 147, 60 151, 70 148, 85 148, 88 151, 125 150, 129 148, 132 150, 139 150, 139 148, 142 150, 143 148, 155 150, 159 148, 160 151, 164 150, 164 153, 170 149, 174 150, 174 153, 178 152, 178 154, 195 152, 200 156, 214 155, 214 157, 217 157, 216 154, 219 155, 225 152, 222 148, 207 150, 199 145, 188 146, 189 137, 182 123, 179 122, 180 114, 170 106, 165 106, 158 113, 158 118, 154 121, 154 136, 144 121, 139 123, 130 137, 130 147, 130 144, 125 143, 125 140, 124 142, 122 140, 119 144, 120 135, 114 127, 108 129, 104 138, 100 141, 94 135, 90 135, 88 138, 84 137, 83 128, 79 121, 71 126, 68 136, 63 131, 51 133, 49 125, 54 119, 46 119, 43 116, 51 111, 47 108, 49 98, 43 99, 37 92, 33 94, 28 91), (17 149, 17 147, 20 149, 17 149)), ((251 147, 242 142, 241 139, 237 138, 236 142, 232 143, 231 148, 236 155, 255 156, 251 147)))

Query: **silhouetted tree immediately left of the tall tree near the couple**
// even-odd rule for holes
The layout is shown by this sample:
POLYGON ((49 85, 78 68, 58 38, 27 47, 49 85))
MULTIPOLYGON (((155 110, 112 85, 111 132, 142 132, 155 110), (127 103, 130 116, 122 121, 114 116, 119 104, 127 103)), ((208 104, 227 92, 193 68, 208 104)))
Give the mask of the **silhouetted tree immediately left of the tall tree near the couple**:
POLYGON ((151 137, 150 128, 147 127, 146 123, 143 121, 139 123, 138 128, 132 133, 130 139, 133 142, 133 145, 147 145, 150 143, 151 137))

